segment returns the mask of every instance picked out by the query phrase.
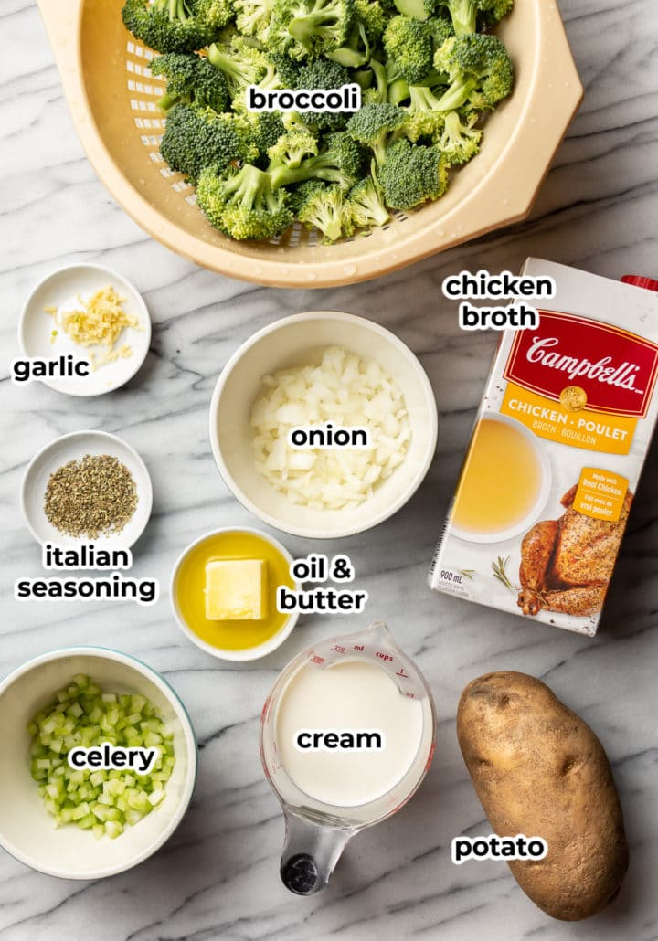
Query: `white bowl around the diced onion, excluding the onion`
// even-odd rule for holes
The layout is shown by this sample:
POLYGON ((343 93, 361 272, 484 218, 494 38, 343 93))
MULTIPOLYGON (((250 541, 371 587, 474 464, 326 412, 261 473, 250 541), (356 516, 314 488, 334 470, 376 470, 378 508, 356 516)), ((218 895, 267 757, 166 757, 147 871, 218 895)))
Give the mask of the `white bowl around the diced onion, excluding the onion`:
POLYGON ((432 387, 409 347, 385 327, 333 311, 295 314, 255 333, 224 367, 210 407, 213 455, 234 496, 270 526, 313 539, 361 533, 404 506, 429 469, 437 424, 432 387), (264 375, 319 362, 320 351, 334 345, 375 359, 392 376, 405 398, 412 439, 404 462, 356 509, 312 510, 291 502, 254 466, 249 414, 264 375))

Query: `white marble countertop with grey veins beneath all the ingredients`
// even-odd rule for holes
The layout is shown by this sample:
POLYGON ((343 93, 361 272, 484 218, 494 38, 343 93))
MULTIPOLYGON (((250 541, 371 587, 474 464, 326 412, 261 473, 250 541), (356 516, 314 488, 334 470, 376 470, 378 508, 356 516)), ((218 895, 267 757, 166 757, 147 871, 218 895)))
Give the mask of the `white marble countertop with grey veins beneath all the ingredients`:
MULTIPOLYGON (((522 2, 522 0, 519 0, 522 2)), ((0 499, 3 518, 0 673, 40 652, 105 644, 162 671, 199 735, 193 804, 166 847, 129 873, 95 883, 49 878, 0 853, 0 934, 8 941, 155 939, 537 937, 658 938, 658 448, 634 502, 599 635, 593 639, 430 593, 433 545, 455 484, 495 337, 462 333, 441 279, 462 268, 517 270, 528 254, 618 278, 656 277, 658 59, 653 0, 563 0, 586 100, 532 217, 384 279, 331 291, 284 291, 222 278, 153 242, 98 183, 72 129, 37 9, 0 11, 0 286, 3 360, 0 499), (70 399, 8 381, 24 295, 56 266, 100 260, 143 292, 150 356, 125 389, 70 399), (252 524, 223 485, 206 434, 217 375, 256 328, 293 311, 376 318, 419 355, 440 405, 439 450, 415 498, 376 531, 340 542, 371 596, 367 618, 314 615, 276 654, 234 667, 187 643, 166 587, 151 608, 18 603, 12 584, 40 573, 18 504, 25 465, 47 441, 86 427, 135 445, 151 472, 154 512, 136 548, 137 574, 169 581, 177 554, 210 526, 252 524), (311 899, 279 881, 283 825, 265 783, 258 716, 281 666, 315 638, 385 618, 435 694, 438 748, 425 784, 391 821, 345 852, 329 888, 311 899), (631 844, 618 901, 589 922, 542 915, 504 863, 458 869, 450 840, 488 832, 458 752, 454 717, 466 682, 512 668, 547 680, 594 727, 613 762, 631 844)), ((284 538, 294 552, 316 548, 284 538)), ((338 548, 338 544, 335 547, 338 548)), ((2 758, 0 757, 0 760, 2 758)), ((2 795, 0 795, 0 800, 2 795)))

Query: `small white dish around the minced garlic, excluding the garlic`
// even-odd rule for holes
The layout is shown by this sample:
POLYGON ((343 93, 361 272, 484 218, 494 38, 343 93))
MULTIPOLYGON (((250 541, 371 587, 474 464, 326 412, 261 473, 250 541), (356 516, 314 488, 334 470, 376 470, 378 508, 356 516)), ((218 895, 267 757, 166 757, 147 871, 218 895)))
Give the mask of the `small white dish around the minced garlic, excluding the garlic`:
POLYGON ((133 349, 132 356, 104 363, 87 376, 40 379, 43 385, 64 392, 65 395, 104 395, 132 379, 146 359, 151 343, 151 318, 144 298, 130 281, 103 264, 72 264, 59 268, 33 288, 24 302, 18 327, 23 356, 57 359, 71 353, 75 359, 89 361, 88 350, 102 347, 73 343, 62 327, 56 324, 52 314, 46 313, 44 308, 59 307, 77 295, 95 294, 108 285, 112 285, 124 298, 123 309, 126 313, 136 314, 139 321, 140 329, 125 327, 120 335, 119 344, 128 343, 133 349), (57 335, 55 342, 51 343, 54 329, 57 335))

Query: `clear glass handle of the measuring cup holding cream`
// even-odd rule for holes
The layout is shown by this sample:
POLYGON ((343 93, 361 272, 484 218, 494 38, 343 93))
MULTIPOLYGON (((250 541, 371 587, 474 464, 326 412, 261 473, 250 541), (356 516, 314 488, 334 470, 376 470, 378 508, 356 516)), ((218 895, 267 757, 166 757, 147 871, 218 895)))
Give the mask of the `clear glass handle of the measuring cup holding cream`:
POLYGON ((296 895, 319 892, 329 882, 350 836, 346 830, 321 826, 287 812, 280 870, 283 885, 296 895))

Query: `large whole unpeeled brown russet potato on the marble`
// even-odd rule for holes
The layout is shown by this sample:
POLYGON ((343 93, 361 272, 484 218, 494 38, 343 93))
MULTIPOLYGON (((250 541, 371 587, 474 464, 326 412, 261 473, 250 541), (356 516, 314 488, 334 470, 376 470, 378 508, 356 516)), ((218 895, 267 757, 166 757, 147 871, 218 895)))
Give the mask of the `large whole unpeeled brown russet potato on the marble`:
POLYGON ((628 868, 617 789, 586 723, 524 673, 473 679, 459 700, 457 739, 499 837, 543 837, 546 857, 510 862, 547 915, 577 921, 617 896, 628 868))

